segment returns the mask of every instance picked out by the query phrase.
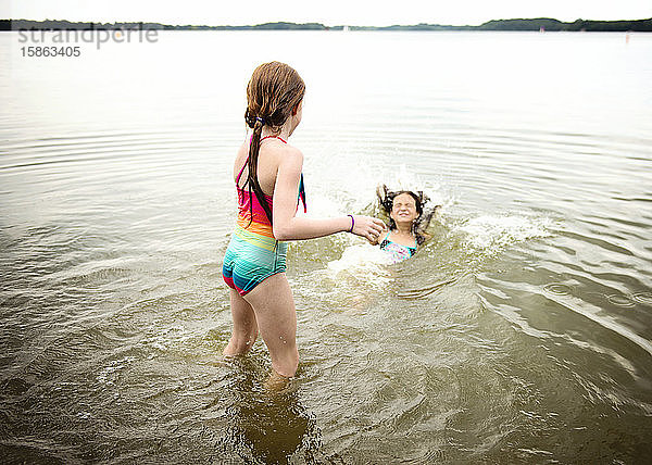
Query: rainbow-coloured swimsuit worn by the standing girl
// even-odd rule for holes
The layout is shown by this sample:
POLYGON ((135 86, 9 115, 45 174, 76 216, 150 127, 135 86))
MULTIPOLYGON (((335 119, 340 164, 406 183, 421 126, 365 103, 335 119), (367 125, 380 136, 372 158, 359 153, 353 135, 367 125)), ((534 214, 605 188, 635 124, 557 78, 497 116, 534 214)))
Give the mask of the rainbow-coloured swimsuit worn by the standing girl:
MULTIPOLYGON (((247 163, 238 174, 236 186, 244 166, 247 163)), ((237 188, 237 190, 238 219, 224 255, 222 276, 230 288, 237 290, 240 296, 244 296, 265 278, 286 271, 288 243, 276 240, 272 223, 255 194, 242 188, 237 188), (253 215, 250 213, 250 204, 253 215)), ((301 175, 299 186, 299 198, 303 201, 305 210, 303 175, 301 175)), ((269 205, 269 211, 274 211, 272 196, 265 196, 265 201, 269 205)), ((299 208, 299 203, 297 203, 297 208, 299 208)))

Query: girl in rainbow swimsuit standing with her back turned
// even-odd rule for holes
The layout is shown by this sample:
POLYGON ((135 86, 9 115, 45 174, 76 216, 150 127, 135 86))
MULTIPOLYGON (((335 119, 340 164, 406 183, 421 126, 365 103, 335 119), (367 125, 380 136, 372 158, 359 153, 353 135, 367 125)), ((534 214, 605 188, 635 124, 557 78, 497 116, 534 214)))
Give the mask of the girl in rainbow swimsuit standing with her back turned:
POLYGON ((286 271, 289 240, 348 231, 377 240, 385 225, 368 216, 312 219, 305 209, 303 153, 288 143, 301 122, 305 85, 285 63, 264 63, 247 86, 244 121, 253 129, 236 155, 238 219, 224 256, 234 328, 224 355, 243 354, 259 330, 272 359, 272 384, 294 376, 297 316, 286 271))

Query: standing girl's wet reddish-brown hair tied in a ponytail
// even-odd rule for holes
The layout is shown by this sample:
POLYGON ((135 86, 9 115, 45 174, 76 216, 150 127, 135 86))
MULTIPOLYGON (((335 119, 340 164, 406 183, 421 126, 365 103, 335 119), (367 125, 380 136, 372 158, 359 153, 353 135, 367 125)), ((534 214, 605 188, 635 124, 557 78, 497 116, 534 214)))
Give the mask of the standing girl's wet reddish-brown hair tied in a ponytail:
MULTIPOLYGON (((247 181, 242 189, 249 188, 272 223, 272 211, 265 200, 265 193, 258 181, 256 166, 261 148, 261 133, 263 126, 269 126, 273 133, 280 133, 285 122, 292 115, 292 111, 303 100, 305 84, 299 73, 291 66, 273 61, 263 63, 253 71, 251 79, 247 85, 247 110, 244 122, 253 129, 251 146, 249 147, 249 159, 247 164, 247 181)), ((253 204, 250 202, 250 214, 253 218, 253 204)))

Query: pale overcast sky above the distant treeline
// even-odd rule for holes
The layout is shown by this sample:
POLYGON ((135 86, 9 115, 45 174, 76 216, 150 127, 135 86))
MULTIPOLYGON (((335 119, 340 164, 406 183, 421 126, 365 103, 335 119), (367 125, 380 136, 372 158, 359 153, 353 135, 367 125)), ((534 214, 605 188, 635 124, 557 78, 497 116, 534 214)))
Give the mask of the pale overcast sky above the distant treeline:
POLYGON ((652 0, 0 0, 0 17, 177 25, 478 25, 514 17, 642 20, 652 17, 652 0))

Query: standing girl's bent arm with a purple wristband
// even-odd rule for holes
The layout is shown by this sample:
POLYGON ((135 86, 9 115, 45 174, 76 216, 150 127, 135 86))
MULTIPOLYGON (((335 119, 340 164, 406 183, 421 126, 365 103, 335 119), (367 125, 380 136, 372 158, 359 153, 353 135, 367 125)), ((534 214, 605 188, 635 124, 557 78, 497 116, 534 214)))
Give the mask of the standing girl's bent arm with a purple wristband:
MULTIPOLYGON (((278 240, 314 239, 329 236, 336 232, 348 231, 351 228, 351 217, 313 219, 296 217, 297 196, 301 168, 303 166, 303 154, 293 147, 284 150, 274 186, 274 237, 278 240)), ((380 219, 368 216, 354 216, 355 225, 353 234, 372 240, 384 229, 380 219)))

